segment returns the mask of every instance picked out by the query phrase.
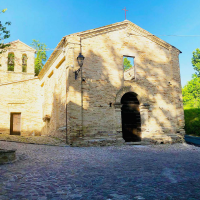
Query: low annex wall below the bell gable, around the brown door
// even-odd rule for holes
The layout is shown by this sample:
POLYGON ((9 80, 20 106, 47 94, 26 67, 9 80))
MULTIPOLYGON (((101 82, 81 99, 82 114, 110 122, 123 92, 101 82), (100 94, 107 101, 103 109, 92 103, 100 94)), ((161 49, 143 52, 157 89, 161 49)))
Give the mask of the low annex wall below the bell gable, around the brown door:
POLYGON ((21 113, 21 135, 40 135, 42 93, 37 78, 0 85, 0 133, 10 134, 11 113, 21 113))

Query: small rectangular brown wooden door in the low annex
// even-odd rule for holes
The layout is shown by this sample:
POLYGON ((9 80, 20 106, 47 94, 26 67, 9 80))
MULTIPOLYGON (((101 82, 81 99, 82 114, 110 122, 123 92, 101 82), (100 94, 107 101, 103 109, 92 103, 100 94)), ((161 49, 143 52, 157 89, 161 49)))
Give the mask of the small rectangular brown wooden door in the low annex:
POLYGON ((11 135, 20 135, 21 133, 21 113, 11 113, 11 135))

